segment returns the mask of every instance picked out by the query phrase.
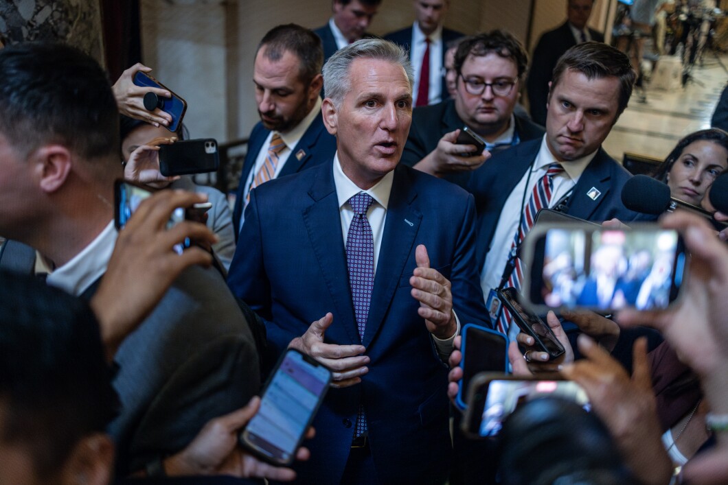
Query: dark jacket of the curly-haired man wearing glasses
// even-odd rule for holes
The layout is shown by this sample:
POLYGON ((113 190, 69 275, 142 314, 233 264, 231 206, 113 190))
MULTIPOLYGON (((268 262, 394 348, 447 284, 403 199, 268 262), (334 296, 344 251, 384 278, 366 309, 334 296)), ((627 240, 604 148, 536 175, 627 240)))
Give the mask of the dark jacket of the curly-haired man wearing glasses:
MULTIPOLYGON (((463 126, 464 122, 458 116, 454 100, 415 108, 412 112, 412 127, 402 153, 402 163, 414 167, 416 163, 437 148, 443 135, 463 126)), ((540 139, 544 135, 543 127, 518 115, 515 116, 515 130, 518 137, 521 138, 521 143, 526 140, 534 140, 534 138, 540 139)), ((467 188, 471 175, 472 172, 452 173, 443 178, 462 188, 467 188)))

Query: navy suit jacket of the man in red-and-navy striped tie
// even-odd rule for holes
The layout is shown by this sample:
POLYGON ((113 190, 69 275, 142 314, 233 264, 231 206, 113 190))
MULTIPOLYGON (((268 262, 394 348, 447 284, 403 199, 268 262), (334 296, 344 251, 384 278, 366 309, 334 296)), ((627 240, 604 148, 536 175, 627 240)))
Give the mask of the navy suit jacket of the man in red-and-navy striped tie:
MULTIPOLYGON (((506 199, 531 167, 539 148, 540 139, 521 143, 496 153, 472 172, 468 190, 475 196, 475 209, 478 211, 478 268, 483 268, 486 261, 506 199)), ((600 148, 574 186, 566 214, 598 223, 614 217, 625 222, 654 220, 655 216, 630 211, 622 204, 622 187, 630 177, 630 172, 600 148), (601 192, 596 200, 587 196, 591 188, 601 192)))

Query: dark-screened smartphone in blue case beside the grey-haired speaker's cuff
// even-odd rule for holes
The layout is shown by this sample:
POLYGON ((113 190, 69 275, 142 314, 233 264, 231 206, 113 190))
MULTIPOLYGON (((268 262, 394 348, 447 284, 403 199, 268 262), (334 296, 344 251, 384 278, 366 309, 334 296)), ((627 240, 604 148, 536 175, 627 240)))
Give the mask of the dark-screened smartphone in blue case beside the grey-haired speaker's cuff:
POLYGON ((508 337, 495 330, 476 324, 462 327, 462 380, 455 398, 455 404, 465 409, 467 388, 478 372, 506 372, 508 368, 508 337))

